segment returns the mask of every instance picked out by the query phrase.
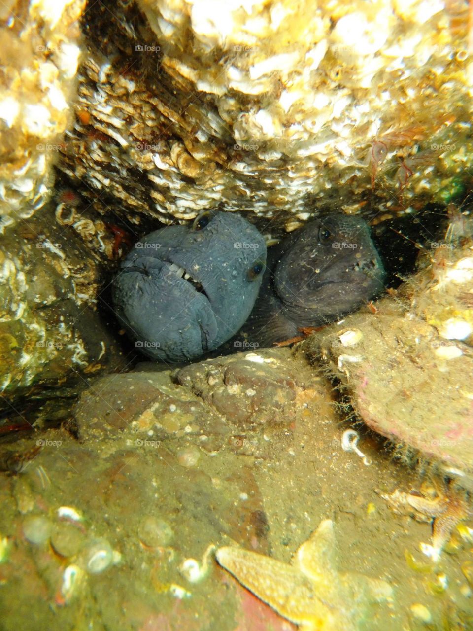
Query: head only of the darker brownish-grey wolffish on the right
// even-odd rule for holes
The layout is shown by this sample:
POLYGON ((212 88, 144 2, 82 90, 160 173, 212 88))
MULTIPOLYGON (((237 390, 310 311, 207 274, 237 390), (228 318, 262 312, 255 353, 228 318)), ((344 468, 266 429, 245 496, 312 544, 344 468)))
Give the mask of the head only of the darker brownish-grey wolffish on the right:
POLYGON ((284 242, 274 270, 283 312, 299 326, 331 321, 383 289, 385 272, 360 218, 334 213, 284 242))

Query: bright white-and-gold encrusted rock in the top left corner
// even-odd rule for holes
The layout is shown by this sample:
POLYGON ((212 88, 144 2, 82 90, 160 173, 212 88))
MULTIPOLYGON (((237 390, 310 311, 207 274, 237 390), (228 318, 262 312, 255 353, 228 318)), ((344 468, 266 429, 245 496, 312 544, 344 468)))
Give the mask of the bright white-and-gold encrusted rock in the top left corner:
POLYGON ((0 8, 0 233, 41 208, 73 119, 86 0, 13 0, 0 8))

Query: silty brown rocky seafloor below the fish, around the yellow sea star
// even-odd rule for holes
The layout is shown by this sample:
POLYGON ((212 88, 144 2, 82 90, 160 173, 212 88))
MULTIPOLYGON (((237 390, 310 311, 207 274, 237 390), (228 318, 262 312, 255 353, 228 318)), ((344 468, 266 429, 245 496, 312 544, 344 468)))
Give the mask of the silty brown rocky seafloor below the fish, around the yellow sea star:
POLYGON ((66 425, 74 435, 3 442, 3 468, 22 469, 0 473, 1 631, 296 628, 221 569, 209 546, 289 562, 325 518, 335 569, 394 589, 354 628, 473 628, 473 541, 455 531, 434 563, 419 550, 431 524, 395 514, 380 496, 425 492, 428 481, 359 425, 370 464, 342 449, 351 425, 301 353, 260 357, 269 361, 257 372, 240 353, 179 379, 149 363, 99 378, 66 425))

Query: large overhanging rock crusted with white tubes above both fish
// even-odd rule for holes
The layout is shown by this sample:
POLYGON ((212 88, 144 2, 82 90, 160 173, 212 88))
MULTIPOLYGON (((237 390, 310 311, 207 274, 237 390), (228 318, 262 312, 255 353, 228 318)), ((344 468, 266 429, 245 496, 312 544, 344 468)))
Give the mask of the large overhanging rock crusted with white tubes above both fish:
POLYGON ((120 217, 219 207, 291 230, 371 192, 397 213, 465 186, 466 3, 139 6, 90 21, 60 164, 120 217))

